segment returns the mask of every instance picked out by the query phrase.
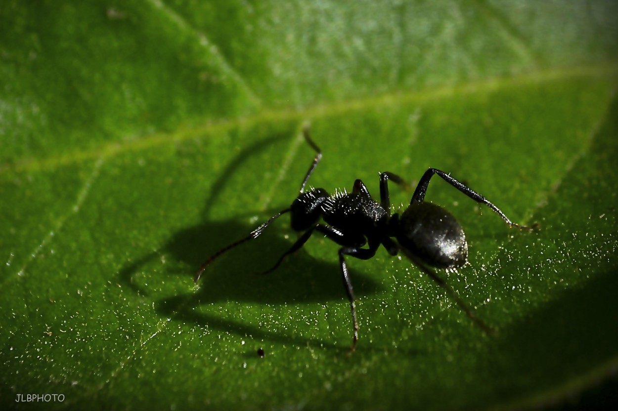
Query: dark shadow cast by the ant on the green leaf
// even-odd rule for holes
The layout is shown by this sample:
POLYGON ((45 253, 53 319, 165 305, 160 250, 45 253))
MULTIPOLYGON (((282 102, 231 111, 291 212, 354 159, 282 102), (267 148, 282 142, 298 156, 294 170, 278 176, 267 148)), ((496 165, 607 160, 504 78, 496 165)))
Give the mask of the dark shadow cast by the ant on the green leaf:
MULTIPOLYGON (((229 175, 236 172, 242 162, 250 156, 256 155, 274 141, 284 137, 287 138, 288 135, 258 141, 243 149, 230 162, 226 170, 220 173, 221 177, 215 181, 211 194, 206 199, 203 212, 205 219, 208 218, 211 205, 216 204, 229 175)), ((272 214, 275 213, 276 211, 273 210, 272 214)), ((206 257, 214 254, 221 247, 247 236, 261 223, 257 222, 255 226, 248 226, 240 224, 239 220, 243 220, 242 216, 222 222, 207 221, 177 231, 161 249, 144 255, 132 264, 123 267, 119 272, 121 283, 136 294, 153 299, 156 312, 164 318, 195 323, 209 330, 235 333, 242 337, 250 336, 256 340, 268 339, 281 344, 297 346, 310 344, 347 350, 349 348, 347 344, 329 344, 322 339, 274 333, 266 330, 265 327, 227 320, 217 315, 224 310, 223 306, 228 301, 241 304, 245 302, 272 305, 333 301, 336 304, 348 305, 336 248, 332 252, 332 262, 314 259, 301 249, 289 255, 274 272, 268 275, 257 274, 272 267, 276 260, 292 246, 294 239, 285 239, 281 235, 283 232, 293 235, 290 229, 270 226, 255 242, 248 241, 237 249, 222 255, 203 273, 200 278, 200 287, 193 291, 156 299, 154 287, 146 288, 139 284, 139 279, 144 273, 143 268, 155 264, 163 256, 166 263, 163 267, 159 265, 159 269, 155 270, 156 273, 148 272, 147 275, 150 278, 148 283, 152 284, 155 280, 151 278, 152 276, 158 276, 157 278, 161 278, 161 281, 165 281, 165 278, 169 276, 180 276, 182 278, 180 281, 186 280, 187 286, 192 286, 195 271, 206 257), (247 262, 250 262, 250 265, 247 265, 247 262), (197 307, 200 308, 197 309, 197 307)), ((286 220, 286 218, 281 220, 286 220)), ((281 225, 284 226, 284 223, 281 225)), ((295 238, 295 235, 290 237, 295 238)), ((148 268, 146 271, 149 271, 148 268)), ((354 270, 350 271, 357 296, 374 294, 381 290, 381 286, 367 276, 354 270)), ((350 319, 350 334, 351 332, 350 319)))

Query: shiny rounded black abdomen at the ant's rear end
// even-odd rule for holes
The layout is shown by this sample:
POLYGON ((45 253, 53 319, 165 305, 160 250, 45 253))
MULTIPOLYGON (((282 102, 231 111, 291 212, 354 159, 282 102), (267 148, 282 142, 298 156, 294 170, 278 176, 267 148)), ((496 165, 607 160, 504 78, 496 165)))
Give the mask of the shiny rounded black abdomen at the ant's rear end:
POLYGON ((468 260, 468 243, 455 217, 431 202, 411 202, 399 217, 391 217, 391 235, 404 254, 437 268, 462 267, 468 260))

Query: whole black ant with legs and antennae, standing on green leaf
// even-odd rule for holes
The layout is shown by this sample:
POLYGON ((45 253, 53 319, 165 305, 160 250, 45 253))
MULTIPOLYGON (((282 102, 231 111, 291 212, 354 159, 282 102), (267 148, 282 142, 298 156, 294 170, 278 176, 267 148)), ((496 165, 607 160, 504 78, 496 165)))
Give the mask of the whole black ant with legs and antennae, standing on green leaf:
POLYGON ((455 268, 462 267, 468 261, 468 243, 465 239, 464 230, 455 220, 455 217, 439 205, 423 201, 429 181, 434 174, 437 174, 466 196, 494 210, 509 226, 515 226, 520 228, 520 230, 528 229, 528 227, 512 222, 488 199, 436 168, 430 168, 423 174, 412 195, 410 205, 408 205, 408 208, 401 216, 399 214, 391 215, 387 183, 391 180, 404 188, 407 187, 407 184, 400 176, 394 173, 383 172, 380 174, 380 202, 376 202, 371 198, 368 189, 361 180, 354 181, 352 193, 338 191, 330 195, 323 188, 310 188, 309 191, 305 192, 307 181, 318 162, 320 162, 322 152, 320 147, 311 139, 308 127, 303 129, 303 135, 307 143, 315 150, 316 156, 305 175, 305 180, 303 180, 300 186, 298 197, 292 202, 290 207, 275 214, 267 222, 252 231, 250 235, 214 253, 201 265, 195 275, 195 282, 197 283, 201 273, 219 255, 245 241, 258 238, 274 220, 282 214, 290 212, 292 228, 303 233, 292 247, 281 256, 277 263, 263 274, 272 272, 279 267, 284 258, 300 249, 314 231, 318 231, 339 244, 341 246, 339 249, 339 264, 341 264, 345 293, 350 300, 350 308, 352 309, 354 331, 351 351, 356 349, 358 321, 352 283, 350 282, 344 256, 350 255, 357 259, 368 260, 376 254, 380 245, 383 245, 391 255, 396 255, 397 252, 401 251, 436 283, 446 289, 447 293, 457 302, 457 305, 464 310, 468 317, 485 330, 486 333, 493 333, 493 329, 476 318, 472 310, 455 294, 451 286, 446 284, 430 268, 454 270, 455 268), (319 223, 320 217, 326 224, 319 223), (394 237, 396 241, 391 237, 394 237), (368 244, 368 247, 362 248, 365 244, 368 244))

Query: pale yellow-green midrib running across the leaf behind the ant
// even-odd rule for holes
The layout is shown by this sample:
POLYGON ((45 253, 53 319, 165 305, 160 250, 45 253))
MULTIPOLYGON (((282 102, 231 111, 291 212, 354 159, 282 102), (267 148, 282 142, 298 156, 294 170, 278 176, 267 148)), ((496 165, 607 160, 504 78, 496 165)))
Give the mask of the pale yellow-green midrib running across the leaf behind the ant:
POLYGON ((264 109, 256 114, 243 115, 235 118, 224 118, 216 122, 206 122, 195 127, 180 127, 172 133, 153 133, 149 136, 136 138, 129 136, 122 141, 103 144, 89 149, 76 149, 64 154, 46 158, 23 158, 10 164, 0 165, 0 175, 3 173, 23 173, 54 170, 93 159, 107 159, 124 152, 140 152, 164 144, 177 144, 200 136, 211 136, 237 128, 253 127, 261 123, 303 121, 336 117, 368 109, 400 106, 412 102, 430 102, 467 94, 495 93, 502 89, 517 86, 528 86, 535 83, 549 83, 567 80, 569 78, 611 77, 618 74, 618 64, 613 61, 595 65, 575 67, 546 68, 535 72, 518 73, 508 77, 491 77, 484 80, 471 81, 459 85, 446 85, 421 90, 394 91, 390 93, 350 99, 339 102, 316 104, 305 109, 280 107, 264 109))

